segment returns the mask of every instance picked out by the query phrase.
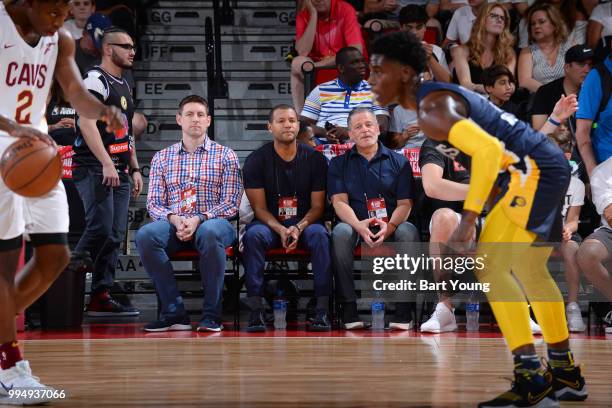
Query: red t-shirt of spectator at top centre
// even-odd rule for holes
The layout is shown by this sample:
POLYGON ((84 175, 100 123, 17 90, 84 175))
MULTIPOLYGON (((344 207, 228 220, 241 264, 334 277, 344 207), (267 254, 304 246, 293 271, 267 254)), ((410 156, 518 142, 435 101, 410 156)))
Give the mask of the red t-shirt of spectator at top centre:
MULTIPOLYGON (((304 9, 298 14, 296 40, 304 35, 309 20, 308 9, 304 9)), ((365 52, 365 43, 361 36, 361 27, 357 22, 355 9, 342 0, 331 0, 329 18, 327 20, 317 20, 314 44, 308 56, 313 61, 320 61, 325 57, 336 55, 343 47, 355 44, 361 44, 362 52, 365 52)))

